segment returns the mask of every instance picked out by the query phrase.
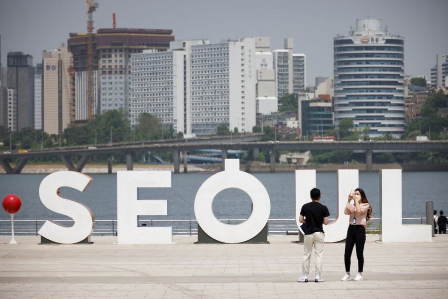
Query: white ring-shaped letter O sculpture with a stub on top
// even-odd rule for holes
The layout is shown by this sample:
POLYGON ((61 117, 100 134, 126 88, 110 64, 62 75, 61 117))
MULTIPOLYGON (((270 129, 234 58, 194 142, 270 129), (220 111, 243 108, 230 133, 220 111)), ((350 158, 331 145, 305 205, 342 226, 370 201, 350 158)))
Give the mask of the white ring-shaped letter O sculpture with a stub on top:
POLYGON ((208 178, 196 193, 195 215, 198 224, 211 238, 223 243, 241 243, 252 239, 264 228, 271 202, 263 184, 253 175, 239 170, 239 159, 225 159, 224 163, 225 170, 208 178), (213 214, 213 199, 227 188, 240 189, 252 200, 252 214, 243 223, 225 224, 213 214))

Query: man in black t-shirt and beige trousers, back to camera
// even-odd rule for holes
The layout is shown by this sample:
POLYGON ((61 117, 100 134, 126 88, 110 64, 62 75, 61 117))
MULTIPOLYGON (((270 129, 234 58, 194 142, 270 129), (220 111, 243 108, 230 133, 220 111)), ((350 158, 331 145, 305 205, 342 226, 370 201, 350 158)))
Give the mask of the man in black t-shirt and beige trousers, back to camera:
POLYGON ((302 206, 299 216, 299 222, 305 223, 304 242, 303 242, 303 264, 302 276, 299 283, 308 282, 308 273, 310 272, 311 251, 315 251, 316 255, 316 278, 315 283, 322 283, 322 254, 324 253, 324 229, 322 224, 328 224, 328 216, 330 212, 328 208, 320 203, 321 190, 313 188, 310 191, 311 202, 302 206))

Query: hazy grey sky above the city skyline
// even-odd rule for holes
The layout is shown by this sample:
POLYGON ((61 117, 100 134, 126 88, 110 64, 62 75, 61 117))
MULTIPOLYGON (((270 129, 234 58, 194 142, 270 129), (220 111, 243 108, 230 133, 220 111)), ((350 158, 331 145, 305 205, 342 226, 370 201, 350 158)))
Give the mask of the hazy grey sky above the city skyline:
MULTIPOLYGON (((116 27, 173 29, 176 40, 269 36, 271 50, 294 38, 307 57, 307 83, 333 74, 333 38, 356 19, 378 18, 405 39, 405 74, 427 75, 436 54, 448 53, 448 0, 97 0, 95 31, 116 27)), ((1 63, 9 51, 42 60, 42 50, 87 31, 85 0, 0 0, 1 63)))

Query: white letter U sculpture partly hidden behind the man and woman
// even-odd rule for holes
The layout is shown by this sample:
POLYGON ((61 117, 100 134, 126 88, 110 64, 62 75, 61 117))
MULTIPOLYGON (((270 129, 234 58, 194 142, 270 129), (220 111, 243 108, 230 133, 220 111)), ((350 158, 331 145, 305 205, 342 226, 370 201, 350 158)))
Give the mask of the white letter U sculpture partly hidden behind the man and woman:
MULTIPOLYGON (((334 243, 345 239, 348 229, 348 215, 344 214, 347 196, 358 186, 357 169, 337 170, 337 214, 336 219, 324 226, 325 242, 334 243)), ((310 190, 316 187, 316 170, 296 170, 296 223, 299 227, 300 210, 311 201, 310 190)), ((332 199, 324 198, 323 204, 332 199)), ((332 215, 330 215, 331 218, 332 215)))

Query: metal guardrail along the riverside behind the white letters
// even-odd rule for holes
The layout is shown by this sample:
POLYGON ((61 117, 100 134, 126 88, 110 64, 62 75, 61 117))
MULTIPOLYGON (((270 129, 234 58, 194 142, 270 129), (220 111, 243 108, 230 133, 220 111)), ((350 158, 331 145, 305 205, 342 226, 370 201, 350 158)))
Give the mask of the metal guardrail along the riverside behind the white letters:
MULTIPOLYGON (((246 219, 220 219, 221 222, 227 224, 238 224, 246 219)), ((334 219, 330 219, 333 221, 334 219)), ((372 218, 367 224, 366 233, 379 233, 379 218, 372 218)), ((39 229, 46 220, 14 220, 14 235, 38 235, 39 229)), ((54 222, 70 227, 73 220, 53 220, 54 222)), ((426 224, 426 217, 402 218, 403 224, 426 224)), ((139 219, 139 226, 171 226, 173 235, 198 235, 198 221, 196 219, 139 219)), ((118 223, 116 220, 95 220, 95 228, 92 233, 94 236, 116 236, 118 223)), ((325 227, 324 227, 325 230, 325 227)), ((269 219, 268 234, 269 235, 297 235, 295 219, 269 219)), ((11 235, 11 221, 0 220, 0 236, 11 235)))

